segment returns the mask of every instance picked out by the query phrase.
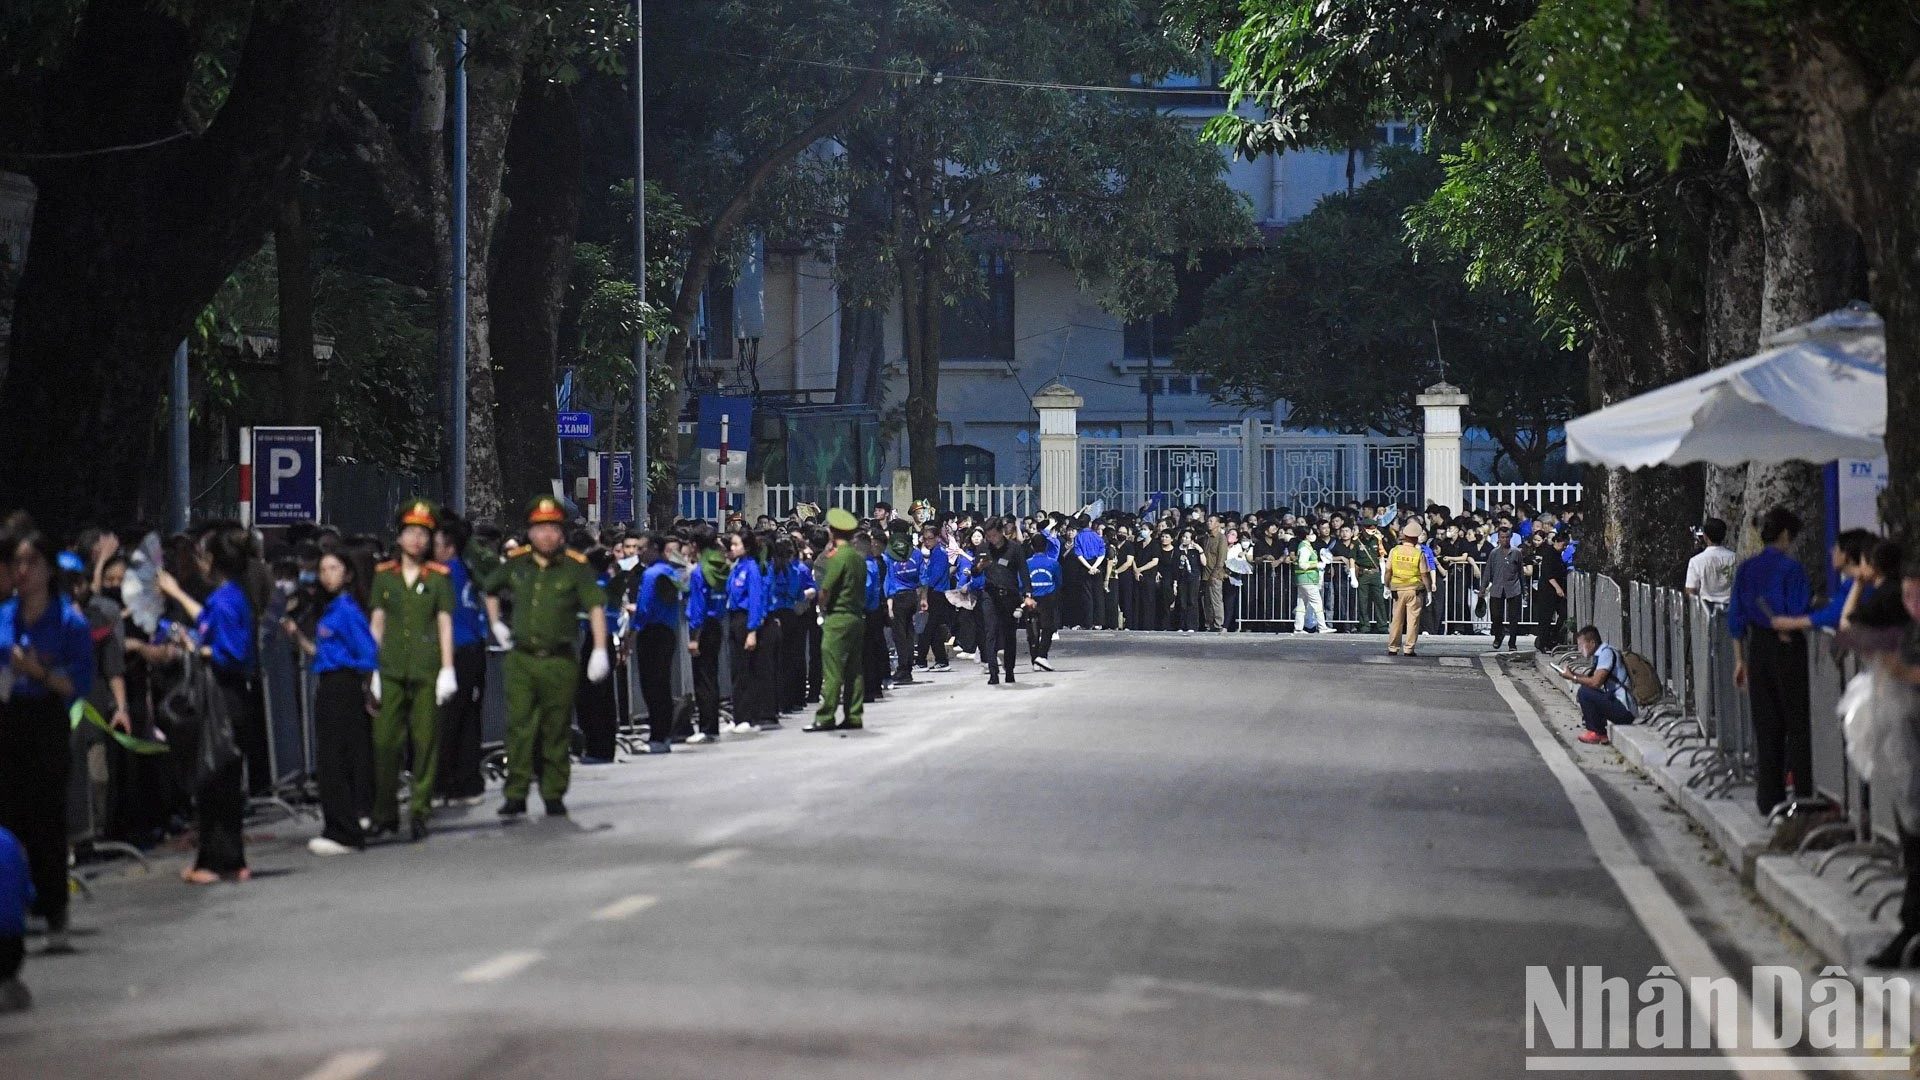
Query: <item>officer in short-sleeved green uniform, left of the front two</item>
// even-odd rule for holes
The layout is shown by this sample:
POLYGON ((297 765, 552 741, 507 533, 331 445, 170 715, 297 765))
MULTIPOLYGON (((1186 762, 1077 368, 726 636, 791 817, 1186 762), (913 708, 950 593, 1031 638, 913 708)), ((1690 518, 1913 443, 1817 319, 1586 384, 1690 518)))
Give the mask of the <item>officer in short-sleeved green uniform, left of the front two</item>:
POLYGON ((440 763, 440 705, 457 690, 453 675, 453 578, 447 567, 426 557, 438 525, 434 505, 415 500, 399 511, 399 557, 374 567, 372 640, 380 644, 380 671, 372 698, 380 715, 372 724, 372 824, 374 832, 399 830, 399 767, 413 740, 413 838, 426 836, 434 803, 434 771, 440 763))

